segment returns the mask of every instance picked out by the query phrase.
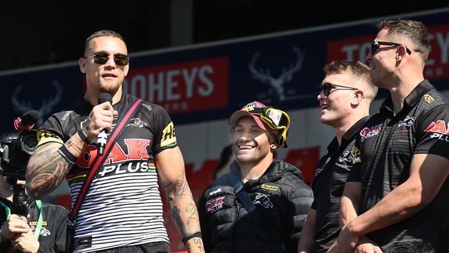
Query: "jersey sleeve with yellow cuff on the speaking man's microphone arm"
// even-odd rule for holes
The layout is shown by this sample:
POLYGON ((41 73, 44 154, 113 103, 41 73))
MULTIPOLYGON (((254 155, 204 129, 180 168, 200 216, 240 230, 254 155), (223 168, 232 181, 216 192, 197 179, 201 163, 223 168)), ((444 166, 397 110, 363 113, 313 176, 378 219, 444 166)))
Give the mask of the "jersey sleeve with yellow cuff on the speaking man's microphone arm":
POLYGON ((53 114, 48 120, 37 129, 37 147, 48 142, 64 144, 64 133, 59 118, 53 114))

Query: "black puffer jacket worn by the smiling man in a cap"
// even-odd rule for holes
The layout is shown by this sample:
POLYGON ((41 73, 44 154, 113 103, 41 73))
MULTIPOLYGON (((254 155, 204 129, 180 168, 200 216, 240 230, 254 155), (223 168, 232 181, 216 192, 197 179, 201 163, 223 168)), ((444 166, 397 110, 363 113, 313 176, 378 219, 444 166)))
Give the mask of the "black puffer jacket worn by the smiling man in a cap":
MULTIPOLYGON (((237 166, 234 162, 231 171, 237 166)), ((204 191, 198 205, 206 252, 296 252, 313 201, 299 169, 274 160, 265 174, 244 186, 271 229, 264 231, 248 215, 225 174, 204 191)))

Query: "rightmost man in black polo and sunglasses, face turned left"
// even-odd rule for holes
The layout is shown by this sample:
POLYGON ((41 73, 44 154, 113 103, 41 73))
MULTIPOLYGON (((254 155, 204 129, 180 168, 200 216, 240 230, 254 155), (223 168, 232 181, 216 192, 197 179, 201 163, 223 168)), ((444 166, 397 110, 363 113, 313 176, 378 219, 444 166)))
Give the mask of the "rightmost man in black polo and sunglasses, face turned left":
POLYGON ((363 235, 383 252, 448 252, 449 109, 423 77, 427 28, 409 20, 379 28, 367 62, 390 96, 356 138, 345 226, 329 252, 348 252, 363 235))

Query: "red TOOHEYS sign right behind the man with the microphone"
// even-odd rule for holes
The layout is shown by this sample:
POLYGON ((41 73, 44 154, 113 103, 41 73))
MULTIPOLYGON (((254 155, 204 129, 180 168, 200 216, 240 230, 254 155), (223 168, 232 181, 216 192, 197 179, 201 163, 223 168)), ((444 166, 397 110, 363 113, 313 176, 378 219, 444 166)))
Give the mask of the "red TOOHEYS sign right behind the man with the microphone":
POLYGON ((171 114, 228 106, 228 58, 134 68, 124 91, 164 106, 171 114))

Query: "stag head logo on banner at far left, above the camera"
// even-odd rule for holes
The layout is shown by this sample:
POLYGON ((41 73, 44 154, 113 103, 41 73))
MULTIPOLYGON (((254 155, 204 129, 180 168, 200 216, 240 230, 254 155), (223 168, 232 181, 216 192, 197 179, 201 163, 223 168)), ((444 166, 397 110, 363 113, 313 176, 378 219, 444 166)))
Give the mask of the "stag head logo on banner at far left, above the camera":
MULTIPOLYGON (((63 87, 57 82, 56 80, 52 80, 52 85, 55 87, 56 95, 55 97, 48 97, 47 99, 44 99, 42 101, 41 108, 37 109, 39 111, 39 121, 37 122, 37 125, 40 126, 42 123, 44 123, 45 115, 48 115, 49 113, 52 113, 52 107, 61 102, 61 95, 63 91, 63 87)), ((33 106, 31 105, 31 101, 19 101, 19 93, 23 88, 23 84, 19 84, 17 88, 15 89, 14 93, 11 97, 11 102, 15 106, 15 110, 19 111, 21 114, 26 113, 27 111, 35 110, 33 106)))

